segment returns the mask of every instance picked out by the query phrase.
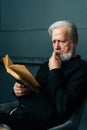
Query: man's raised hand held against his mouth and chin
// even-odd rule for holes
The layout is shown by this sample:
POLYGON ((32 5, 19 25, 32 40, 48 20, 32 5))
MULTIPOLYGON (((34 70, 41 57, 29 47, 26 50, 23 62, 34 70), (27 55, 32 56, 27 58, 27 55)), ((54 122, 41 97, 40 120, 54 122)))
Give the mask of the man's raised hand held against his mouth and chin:
POLYGON ((58 52, 53 52, 49 59, 49 70, 61 68, 61 60, 58 52))

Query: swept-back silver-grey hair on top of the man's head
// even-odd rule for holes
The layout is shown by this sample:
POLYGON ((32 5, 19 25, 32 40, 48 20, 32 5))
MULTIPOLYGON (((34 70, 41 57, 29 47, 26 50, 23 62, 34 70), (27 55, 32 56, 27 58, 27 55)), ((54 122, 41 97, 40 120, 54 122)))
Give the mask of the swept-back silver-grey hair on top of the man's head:
POLYGON ((71 40, 72 41, 77 40, 78 42, 77 27, 73 22, 67 20, 57 21, 52 25, 50 25, 50 27, 48 28, 49 35, 52 35, 52 32, 55 28, 59 28, 63 26, 66 26, 68 28, 68 34, 70 35, 71 40))

